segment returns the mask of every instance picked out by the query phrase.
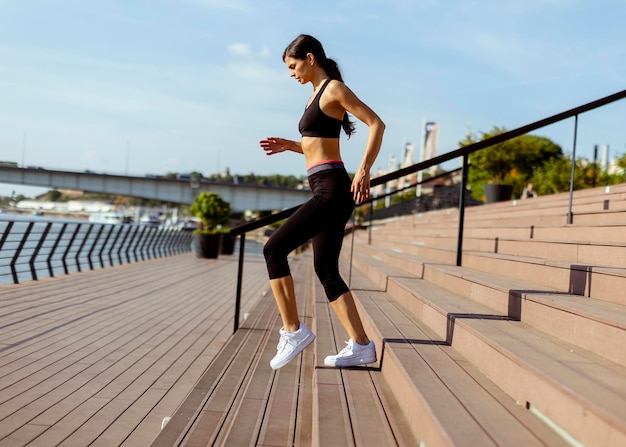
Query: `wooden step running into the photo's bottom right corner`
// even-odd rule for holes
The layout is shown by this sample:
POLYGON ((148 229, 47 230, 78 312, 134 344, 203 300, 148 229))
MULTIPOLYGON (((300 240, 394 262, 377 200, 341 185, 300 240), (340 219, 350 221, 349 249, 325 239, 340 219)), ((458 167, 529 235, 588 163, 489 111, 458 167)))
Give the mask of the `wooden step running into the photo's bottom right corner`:
POLYGON ((370 279, 372 269, 384 271, 379 286, 388 295, 515 401, 584 445, 626 442, 623 366, 383 261, 359 259, 354 266, 370 279))

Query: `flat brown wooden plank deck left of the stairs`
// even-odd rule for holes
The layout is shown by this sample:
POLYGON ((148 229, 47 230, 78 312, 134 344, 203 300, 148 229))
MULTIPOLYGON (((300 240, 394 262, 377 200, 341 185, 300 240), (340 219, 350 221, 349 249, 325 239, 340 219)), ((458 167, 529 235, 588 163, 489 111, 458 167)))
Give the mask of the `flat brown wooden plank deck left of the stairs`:
MULTIPOLYGON (((244 271, 242 318, 273 304, 244 271)), ((184 254, 2 286, 0 446, 149 445, 231 338, 236 279, 184 254)))

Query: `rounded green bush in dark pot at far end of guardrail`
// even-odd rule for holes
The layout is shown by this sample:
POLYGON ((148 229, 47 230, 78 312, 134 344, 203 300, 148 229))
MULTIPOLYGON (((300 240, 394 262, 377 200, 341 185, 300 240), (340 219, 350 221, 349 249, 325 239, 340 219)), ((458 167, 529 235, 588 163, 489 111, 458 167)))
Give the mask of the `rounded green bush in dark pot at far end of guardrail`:
POLYGON ((200 222, 202 228, 194 230, 194 251, 199 258, 217 258, 221 251, 222 226, 230 220, 230 204, 219 194, 203 192, 196 196, 189 207, 200 222))

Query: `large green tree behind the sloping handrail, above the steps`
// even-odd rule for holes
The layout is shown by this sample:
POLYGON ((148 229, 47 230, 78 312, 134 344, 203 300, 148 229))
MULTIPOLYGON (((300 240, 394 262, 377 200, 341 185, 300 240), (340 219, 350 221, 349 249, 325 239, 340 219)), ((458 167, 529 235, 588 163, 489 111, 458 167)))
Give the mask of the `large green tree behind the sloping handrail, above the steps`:
MULTIPOLYGON (((461 147, 483 141, 506 132, 495 126, 490 132, 481 132, 480 139, 468 136, 459 142, 461 147)), ((522 135, 503 143, 489 146, 469 156, 468 182, 475 199, 482 200, 486 183, 513 186, 513 195, 518 197, 535 171, 550 160, 563 156, 561 147, 546 137, 522 135)))

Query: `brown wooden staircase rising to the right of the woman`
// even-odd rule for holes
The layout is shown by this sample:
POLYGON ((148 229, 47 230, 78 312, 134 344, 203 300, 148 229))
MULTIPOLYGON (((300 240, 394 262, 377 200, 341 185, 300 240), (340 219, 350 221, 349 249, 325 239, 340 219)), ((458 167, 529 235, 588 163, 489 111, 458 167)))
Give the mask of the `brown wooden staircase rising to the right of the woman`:
POLYGON ((626 184, 575 192, 572 224, 568 210, 569 194, 468 208, 461 267, 455 209, 346 239, 416 442, 626 445, 626 184))

